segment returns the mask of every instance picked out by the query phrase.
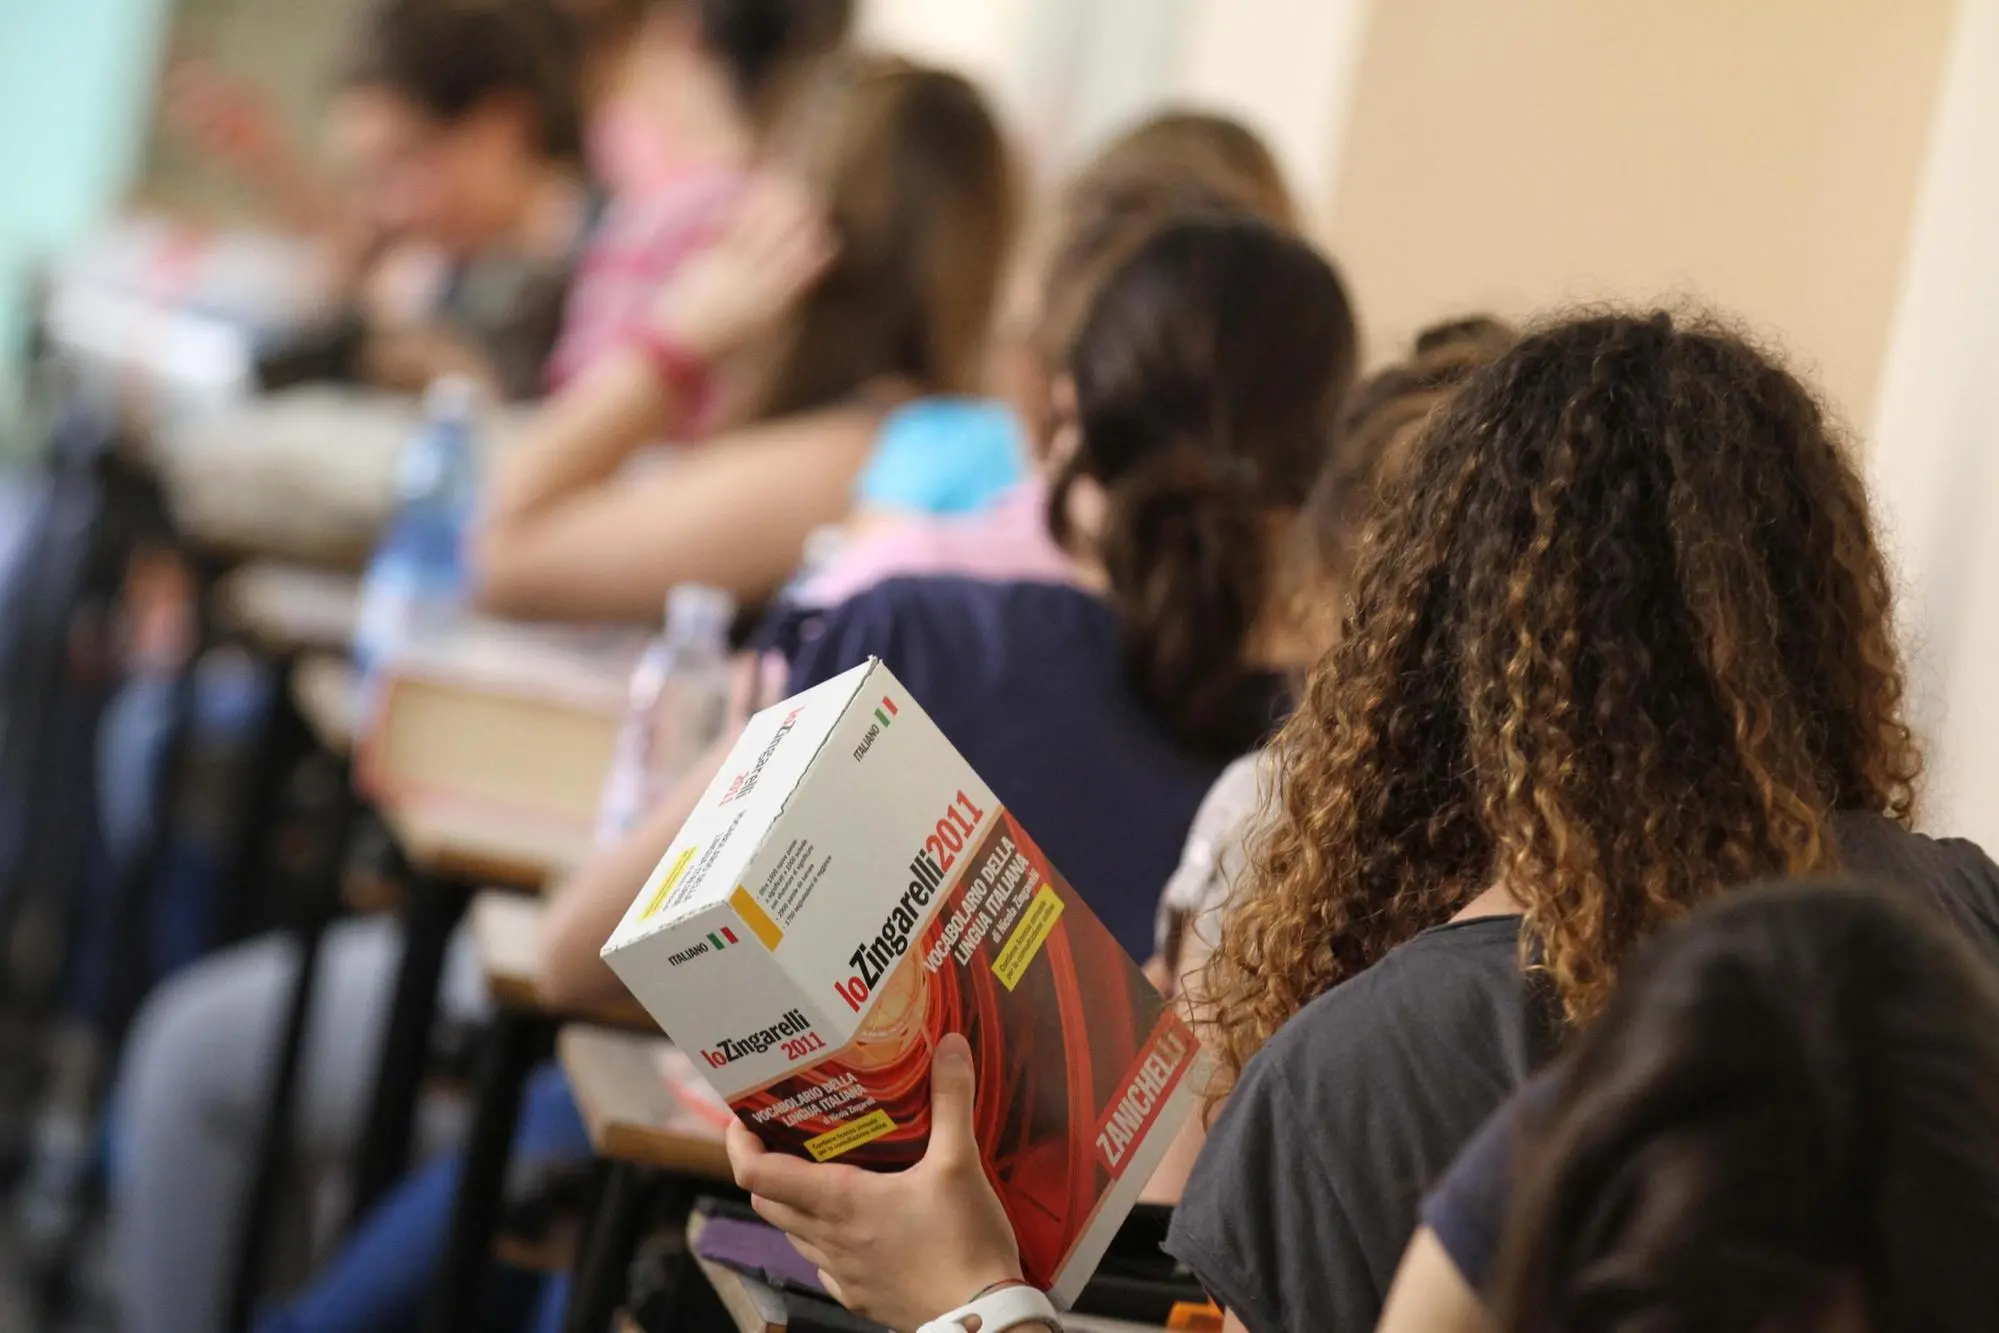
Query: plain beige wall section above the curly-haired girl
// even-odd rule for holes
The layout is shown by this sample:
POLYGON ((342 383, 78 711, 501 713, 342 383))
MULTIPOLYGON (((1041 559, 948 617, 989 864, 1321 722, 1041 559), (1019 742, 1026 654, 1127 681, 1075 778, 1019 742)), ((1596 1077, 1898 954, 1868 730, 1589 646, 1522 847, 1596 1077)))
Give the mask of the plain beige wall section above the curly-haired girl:
POLYGON ((1467 306, 1691 294, 1865 424, 1951 0, 1375 0, 1331 238, 1391 354, 1467 306))

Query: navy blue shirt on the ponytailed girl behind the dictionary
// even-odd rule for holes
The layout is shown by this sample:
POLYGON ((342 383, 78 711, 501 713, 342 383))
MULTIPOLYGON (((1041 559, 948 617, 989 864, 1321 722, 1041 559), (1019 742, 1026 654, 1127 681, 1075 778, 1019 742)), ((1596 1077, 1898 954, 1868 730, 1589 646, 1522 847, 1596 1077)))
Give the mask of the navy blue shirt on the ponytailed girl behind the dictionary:
MULTIPOLYGON (((1057 584, 890 580, 790 612, 790 691, 882 658, 1133 959, 1223 761, 1189 755, 1123 673, 1115 612, 1057 584)), ((1257 677, 1271 721, 1277 677, 1257 677)))

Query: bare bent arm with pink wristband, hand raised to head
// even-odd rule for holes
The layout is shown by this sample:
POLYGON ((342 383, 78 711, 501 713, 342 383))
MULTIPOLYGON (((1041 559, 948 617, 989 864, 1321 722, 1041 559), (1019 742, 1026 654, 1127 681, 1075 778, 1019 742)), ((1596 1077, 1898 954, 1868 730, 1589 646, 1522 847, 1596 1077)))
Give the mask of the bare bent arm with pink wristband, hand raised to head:
POLYGON ((474 538, 480 600, 510 616, 654 620, 674 584, 778 588, 812 528, 842 518, 874 414, 808 412, 716 442, 670 474, 620 480, 648 440, 686 434, 702 398, 752 414, 758 348, 832 262, 824 210, 794 182, 754 186, 722 238, 660 294, 644 348, 560 394, 494 488, 474 538))

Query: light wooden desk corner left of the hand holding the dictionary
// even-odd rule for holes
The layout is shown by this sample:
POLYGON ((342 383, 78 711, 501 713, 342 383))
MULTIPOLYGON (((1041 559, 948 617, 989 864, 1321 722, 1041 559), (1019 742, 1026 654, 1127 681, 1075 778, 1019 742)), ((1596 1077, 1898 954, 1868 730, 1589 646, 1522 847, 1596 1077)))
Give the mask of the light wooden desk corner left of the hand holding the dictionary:
POLYGON ((722 1129, 668 1085, 660 1067, 668 1049, 664 1037, 582 1023, 556 1037, 556 1055, 600 1157, 726 1181, 722 1129))

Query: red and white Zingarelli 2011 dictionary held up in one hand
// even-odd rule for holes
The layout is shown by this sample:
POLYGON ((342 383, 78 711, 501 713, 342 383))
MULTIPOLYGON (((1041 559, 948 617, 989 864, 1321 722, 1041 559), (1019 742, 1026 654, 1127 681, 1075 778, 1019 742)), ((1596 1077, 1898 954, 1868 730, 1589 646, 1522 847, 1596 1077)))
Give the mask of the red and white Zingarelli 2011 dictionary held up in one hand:
POLYGON ((1201 1053, 880 662, 744 729, 604 959, 770 1147, 930 1139, 964 1033, 1027 1281, 1069 1305, 1193 1109, 1201 1053))

